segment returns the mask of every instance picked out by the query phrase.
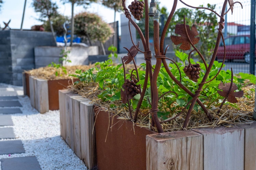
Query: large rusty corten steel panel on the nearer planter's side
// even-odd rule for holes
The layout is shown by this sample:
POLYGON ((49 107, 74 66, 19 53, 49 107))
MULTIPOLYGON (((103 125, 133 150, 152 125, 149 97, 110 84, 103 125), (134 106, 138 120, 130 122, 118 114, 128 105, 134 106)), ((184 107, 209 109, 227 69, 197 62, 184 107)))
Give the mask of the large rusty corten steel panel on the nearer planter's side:
MULTIPOLYGON (((94 112, 97 113, 98 109, 95 106, 94 112)), ((132 122, 117 119, 118 116, 113 115, 109 126, 109 113, 104 110, 99 111, 96 116, 98 170, 146 170, 146 135, 155 132, 137 126, 133 129, 132 122), (108 131, 111 126, 113 127, 108 131)))

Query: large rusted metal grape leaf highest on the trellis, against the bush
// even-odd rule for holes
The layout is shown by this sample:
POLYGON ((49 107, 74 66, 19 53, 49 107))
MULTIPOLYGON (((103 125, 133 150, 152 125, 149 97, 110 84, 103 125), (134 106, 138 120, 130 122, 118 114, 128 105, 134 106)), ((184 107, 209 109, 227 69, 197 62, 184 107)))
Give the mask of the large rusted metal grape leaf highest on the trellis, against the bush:
MULTIPOLYGON (((189 36, 192 44, 197 44, 199 42, 199 40, 200 40, 200 37, 196 37, 196 36, 199 35, 198 31, 196 29, 196 26, 193 25, 191 27, 191 30, 190 30, 189 25, 186 25, 186 28, 187 28, 188 36, 189 36)), ((190 42, 189 42, 189 40, 187 38, 185 29, 184 29, 184 24, 177 24, 176 25, 176 27, 175 27, 175 34, 179 34, 179 35, 181 35, 181 37, 172 35, 171 36, 171 41, 175 45, 178 45, 178 44, 182 43, 181 46, 179 47, 182 50, 190 50, 191 46, 190 46, 190 42)))

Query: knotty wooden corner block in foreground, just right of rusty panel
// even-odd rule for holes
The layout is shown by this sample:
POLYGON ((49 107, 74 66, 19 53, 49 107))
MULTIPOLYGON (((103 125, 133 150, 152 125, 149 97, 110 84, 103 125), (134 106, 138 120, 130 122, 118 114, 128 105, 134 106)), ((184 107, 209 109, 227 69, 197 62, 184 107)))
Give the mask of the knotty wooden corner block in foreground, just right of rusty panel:
POLYGON ((146 136, 147 170, 186 169, 187 137, 176 132, 146 136))

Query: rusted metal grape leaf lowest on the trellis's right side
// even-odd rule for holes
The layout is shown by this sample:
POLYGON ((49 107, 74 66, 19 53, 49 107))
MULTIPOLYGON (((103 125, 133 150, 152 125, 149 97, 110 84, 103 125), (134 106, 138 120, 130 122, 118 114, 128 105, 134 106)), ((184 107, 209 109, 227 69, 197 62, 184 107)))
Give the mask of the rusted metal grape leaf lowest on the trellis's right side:
MULTIPOLYGON (((223 90, 223 91, 220 91, 220 90, 217 90, 217 92, 219 93, 219 95, 221 95, 222 97, 226 97, 227 94, 228 94, 228 91, 229 91, 229 88, 230 88, 230 85, 231 83, 225 83, 223 84, 223 82, 220 82, 219 84, 219 89, 220 90, 223 90)), ((244 95, 244 92, 243 90, 239 91, 239 92, 234 92, 235 90, 237 90, 237 86, 235 84, 232 85, 232 88, 231 88, 231 92, 229 93, 228 95, 228 101, 231 102, 231 103, 237 103, 237 99, 236 97, 243 97, 244 95)))

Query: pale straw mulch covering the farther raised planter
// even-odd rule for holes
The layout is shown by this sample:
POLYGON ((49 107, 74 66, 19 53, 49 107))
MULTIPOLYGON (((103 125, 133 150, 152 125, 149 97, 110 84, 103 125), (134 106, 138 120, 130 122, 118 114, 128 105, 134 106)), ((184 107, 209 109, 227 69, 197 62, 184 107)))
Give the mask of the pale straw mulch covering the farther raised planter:
POLYGON ((32 69, 32 70, 28 70, 28 71, 24 71, 25 73, 28 73, 31 76, 34 76, 36 78, 40 78, 40 79, 44 79, 44 80, 60 80, 60 79, 71 79, 74 78, 72 76, 72 74, 76 74, 76 70, 82 70, 82 71, 86 71, 90 68, 94 68, 95 65, 94 64, 90 64, 90 65, 74 65, 74 66, 65 66, 67 74, 65 74, 62 71, 62 68, 55 68, 55 67, 41 67, 41 68, 37 68, 37 69, 32 69), (55 75, 55 73, 59 72, 58 76, 55 75))

